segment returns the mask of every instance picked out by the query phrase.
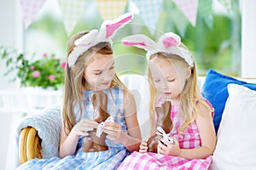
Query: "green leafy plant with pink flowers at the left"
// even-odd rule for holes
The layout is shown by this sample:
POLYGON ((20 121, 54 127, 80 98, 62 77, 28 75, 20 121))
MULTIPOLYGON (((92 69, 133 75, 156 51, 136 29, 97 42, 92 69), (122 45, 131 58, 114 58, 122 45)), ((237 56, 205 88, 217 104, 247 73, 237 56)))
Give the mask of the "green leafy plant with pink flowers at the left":
POLYGON ((39 58, 36 54, 18 53, 16 49, 0 47, 0 57, 5 60, 7 71, 5 76, 15 71, 17 77, 10 79, 20 80, 21 87, 54 88, 61 87, 64 77, 65 61, 55 57, 55 54, 44 53, 39 58))

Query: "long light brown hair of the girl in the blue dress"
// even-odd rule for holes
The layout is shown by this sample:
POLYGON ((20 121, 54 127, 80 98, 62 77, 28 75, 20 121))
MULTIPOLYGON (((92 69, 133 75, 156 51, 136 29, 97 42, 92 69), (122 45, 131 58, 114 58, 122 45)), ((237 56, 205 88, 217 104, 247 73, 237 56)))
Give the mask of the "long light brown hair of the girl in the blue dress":
MULTIPOLYGON (((79 32, 78 34, 71 37, 68 41, 67 58, 72 53, 75 47, 74 41, 79 37, 84 36, 89 31, 79 32)), ((76 124, 76 117, 74 113, 74 107, 79 104, 80 116, 82 116, 82 102, 83 100, 83 89, 87 86, 87 82, 84 78, 84 69, 92 61, 95 54, 113 54, 113 50, 109 42, 100 42, 96 46, 89 48, 84 54, 79 56, 76 63, 69 68, 66 65, 65 70, 65 92, 63 99, 62 108, 62 120, 64 124, 65 133, 70 133, 73 126, 76 124)), ((123 87, 126 91, 125 85, 120 82, 119 78, 114 74, 113 81, 111 82, 110 88, 114 86, 123 87)))

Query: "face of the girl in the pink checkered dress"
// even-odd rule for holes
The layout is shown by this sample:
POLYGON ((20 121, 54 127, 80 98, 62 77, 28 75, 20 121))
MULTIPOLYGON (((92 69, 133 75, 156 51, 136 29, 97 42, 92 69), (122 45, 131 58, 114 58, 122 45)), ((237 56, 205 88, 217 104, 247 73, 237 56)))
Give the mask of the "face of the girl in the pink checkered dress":
POLYGON ((149 69, 158 94, 164 94, 172 104, 178 102, 189 70, 174 67, 170 61, 157 57, 150 60, 149 69))

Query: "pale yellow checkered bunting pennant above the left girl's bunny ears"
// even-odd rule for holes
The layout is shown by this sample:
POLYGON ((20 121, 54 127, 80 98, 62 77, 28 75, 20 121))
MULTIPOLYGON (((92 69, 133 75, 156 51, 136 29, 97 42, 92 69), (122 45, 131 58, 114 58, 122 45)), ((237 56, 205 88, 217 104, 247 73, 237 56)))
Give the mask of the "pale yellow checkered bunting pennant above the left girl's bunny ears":
POLYGON ((124 13, 128 0, 96 0, 102 20, 114 20, 124 13))

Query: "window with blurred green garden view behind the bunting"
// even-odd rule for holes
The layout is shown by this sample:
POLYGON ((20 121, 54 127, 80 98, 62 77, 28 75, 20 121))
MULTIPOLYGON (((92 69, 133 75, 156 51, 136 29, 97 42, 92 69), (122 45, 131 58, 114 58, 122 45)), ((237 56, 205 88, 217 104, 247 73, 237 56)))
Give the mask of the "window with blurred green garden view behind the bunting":
MULTIPOLYGON (((124 12, 132 8, 134 3, 129 1, 124 12)), ((151 35, 147 26, 143 24, 140 14, 135 14, 131 24, 118 31, 114 37, 113 49, 117 72, 146 74, 145 51, 125 47, 120 42, 122 37, 143 33, 156 40, 161 32, 173 31, 182 37, 183 42, 194 55, 199 75, 204 76, 209 68, 213 68, 231 76, 239 76, 241 72, 240 1, 232 1, 229 11, 219 1, 212 0, 212 13, 209 16, 206 16, 204 9, 205 7, 198 9, 194 27, 175 3, 164 0, 154 35, 151 35)), ((57 1, 46 1, 38 17, 24 32, 26 51, 35 51, 37 54, 55 53, 65 59, 68 38, 79 31, 98 29, 101 23, 102 18, 96 1, 89 1, 77 25, 71 34, 67 35, 57 1)))

